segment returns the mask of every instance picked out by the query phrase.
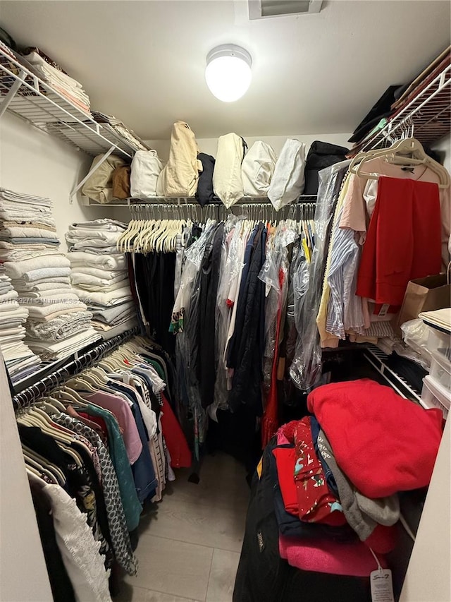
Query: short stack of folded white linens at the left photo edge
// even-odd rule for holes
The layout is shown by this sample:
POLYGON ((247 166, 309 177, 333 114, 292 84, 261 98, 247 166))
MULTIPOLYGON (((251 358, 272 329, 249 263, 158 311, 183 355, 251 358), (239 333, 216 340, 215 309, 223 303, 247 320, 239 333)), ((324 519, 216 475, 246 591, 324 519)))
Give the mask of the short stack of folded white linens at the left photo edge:
POLYGON ((13 383, 37 370, 39 357, 23 342, 28 312, 20 307, 11 279, 0 268, 0 348, 13 383))

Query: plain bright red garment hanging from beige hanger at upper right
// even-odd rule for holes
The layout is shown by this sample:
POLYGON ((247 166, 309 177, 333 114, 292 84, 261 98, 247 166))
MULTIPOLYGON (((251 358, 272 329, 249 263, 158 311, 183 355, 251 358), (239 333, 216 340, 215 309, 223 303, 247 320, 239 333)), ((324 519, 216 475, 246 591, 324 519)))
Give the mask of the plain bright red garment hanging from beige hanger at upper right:
POLYGON ((356 294, 400 306, 409 280, 438 274, 441 265, 438 185, 381 176, 356 294))

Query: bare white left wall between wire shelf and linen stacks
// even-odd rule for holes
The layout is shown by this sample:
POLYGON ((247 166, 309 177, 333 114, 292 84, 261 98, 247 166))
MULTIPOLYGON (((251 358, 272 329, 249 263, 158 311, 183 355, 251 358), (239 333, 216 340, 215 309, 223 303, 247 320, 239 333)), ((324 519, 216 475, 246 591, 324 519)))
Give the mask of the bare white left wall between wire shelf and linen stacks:
POLYGON ((109 207, 83 207, 69 193, 87 174, 92 157, 8 112, 0 119, 0 186, 54 202, 61 251, 71 222, 110 217, 109 207))

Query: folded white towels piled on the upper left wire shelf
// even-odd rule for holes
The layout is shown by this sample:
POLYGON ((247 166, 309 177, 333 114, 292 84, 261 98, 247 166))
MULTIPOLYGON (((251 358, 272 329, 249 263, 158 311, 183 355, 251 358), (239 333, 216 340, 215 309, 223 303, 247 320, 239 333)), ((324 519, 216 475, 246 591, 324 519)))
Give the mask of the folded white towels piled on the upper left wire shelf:
POLYGON ((72 104, 75 104, 80 111, 90 115, 89 96, 83 90, 80 82, 68 76, 61 67, 55 66, 56 64, 39 49, 29 48, 27 50, 29 52, 25 54, 24 59, 31 65, 37 76, 70 100, 72 104))

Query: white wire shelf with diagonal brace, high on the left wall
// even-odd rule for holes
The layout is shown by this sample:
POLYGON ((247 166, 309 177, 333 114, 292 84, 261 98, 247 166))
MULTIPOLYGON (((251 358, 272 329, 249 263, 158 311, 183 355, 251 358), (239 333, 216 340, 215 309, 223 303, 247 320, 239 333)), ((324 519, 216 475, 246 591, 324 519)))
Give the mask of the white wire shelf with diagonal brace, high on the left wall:
MULTIPOLYGON (((112 152, 127 161, 132 159, 135 154, 132 143, 94 121, 91 114, 83 112, 23 63, 23 59, 12 51, 9 53, 0 48, 0 97, 3 99, 0 117, 8 110, 87 155, 104 155, 97 167, 112 152)), ((86 178, 75 186, 70 193, 70 202, 85 181, 86 178)))

